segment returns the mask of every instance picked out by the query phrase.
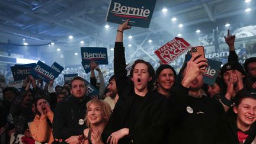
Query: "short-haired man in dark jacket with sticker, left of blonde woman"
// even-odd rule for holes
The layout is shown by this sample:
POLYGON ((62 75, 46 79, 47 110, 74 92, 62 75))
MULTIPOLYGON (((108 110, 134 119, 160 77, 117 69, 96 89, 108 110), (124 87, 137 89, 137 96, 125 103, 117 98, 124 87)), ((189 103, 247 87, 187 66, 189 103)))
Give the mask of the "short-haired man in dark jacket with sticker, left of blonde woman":
POLYGON ((66 143, 81 142, 81 135, 87 128, 84 118, 86 104, 90 100, 85 80, 76 76, 71 81, 71 97, 60 101, 53 117, 53 136, 65 140, 66 143))

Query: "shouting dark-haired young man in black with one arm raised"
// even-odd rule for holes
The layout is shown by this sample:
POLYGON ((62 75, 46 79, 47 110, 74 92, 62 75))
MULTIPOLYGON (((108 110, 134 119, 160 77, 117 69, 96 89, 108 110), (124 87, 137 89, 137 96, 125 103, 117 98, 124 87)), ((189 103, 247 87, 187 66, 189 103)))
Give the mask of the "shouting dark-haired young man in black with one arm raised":
POLYGON ((152 92, 155 71, 145 60, 133 63, 128 78, 124 56, 123 31, 129 20, 119 25, 114 48, 114 73, 119 100, 102 133, 104 143, 159 143, 164 96, 152 92))

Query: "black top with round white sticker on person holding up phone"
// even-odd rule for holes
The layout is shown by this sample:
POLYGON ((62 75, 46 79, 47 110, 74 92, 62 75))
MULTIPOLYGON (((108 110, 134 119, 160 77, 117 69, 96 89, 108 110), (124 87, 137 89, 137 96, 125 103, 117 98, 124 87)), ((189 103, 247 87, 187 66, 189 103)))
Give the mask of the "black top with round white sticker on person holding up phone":
POLYGON ((165 103, 169 125, 168 143, 230 143, 228 120, 219 101, 188 95, 188 88, 176 87, 165 103))

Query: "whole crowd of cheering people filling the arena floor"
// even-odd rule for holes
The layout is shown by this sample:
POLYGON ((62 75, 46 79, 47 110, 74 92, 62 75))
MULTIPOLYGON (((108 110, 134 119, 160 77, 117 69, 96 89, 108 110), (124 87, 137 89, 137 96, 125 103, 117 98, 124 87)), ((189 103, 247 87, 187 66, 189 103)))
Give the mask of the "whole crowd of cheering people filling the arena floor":
POLYGON ((91 62, 89 81, 98 95, 87 95, 83 76, 41 87, 40 79, 29 75, 21 91, 4 88, 0 143, 256 143, 256 57, 242 66, 235 36, 228 31, 225 37, 228 63, 214 85, 204 84, 208 63, 199 54, 178 73, 164 64, 155 71, 138 59, 127 76, 128 23, 117 29, 114 75, 104 79, 91 62))

